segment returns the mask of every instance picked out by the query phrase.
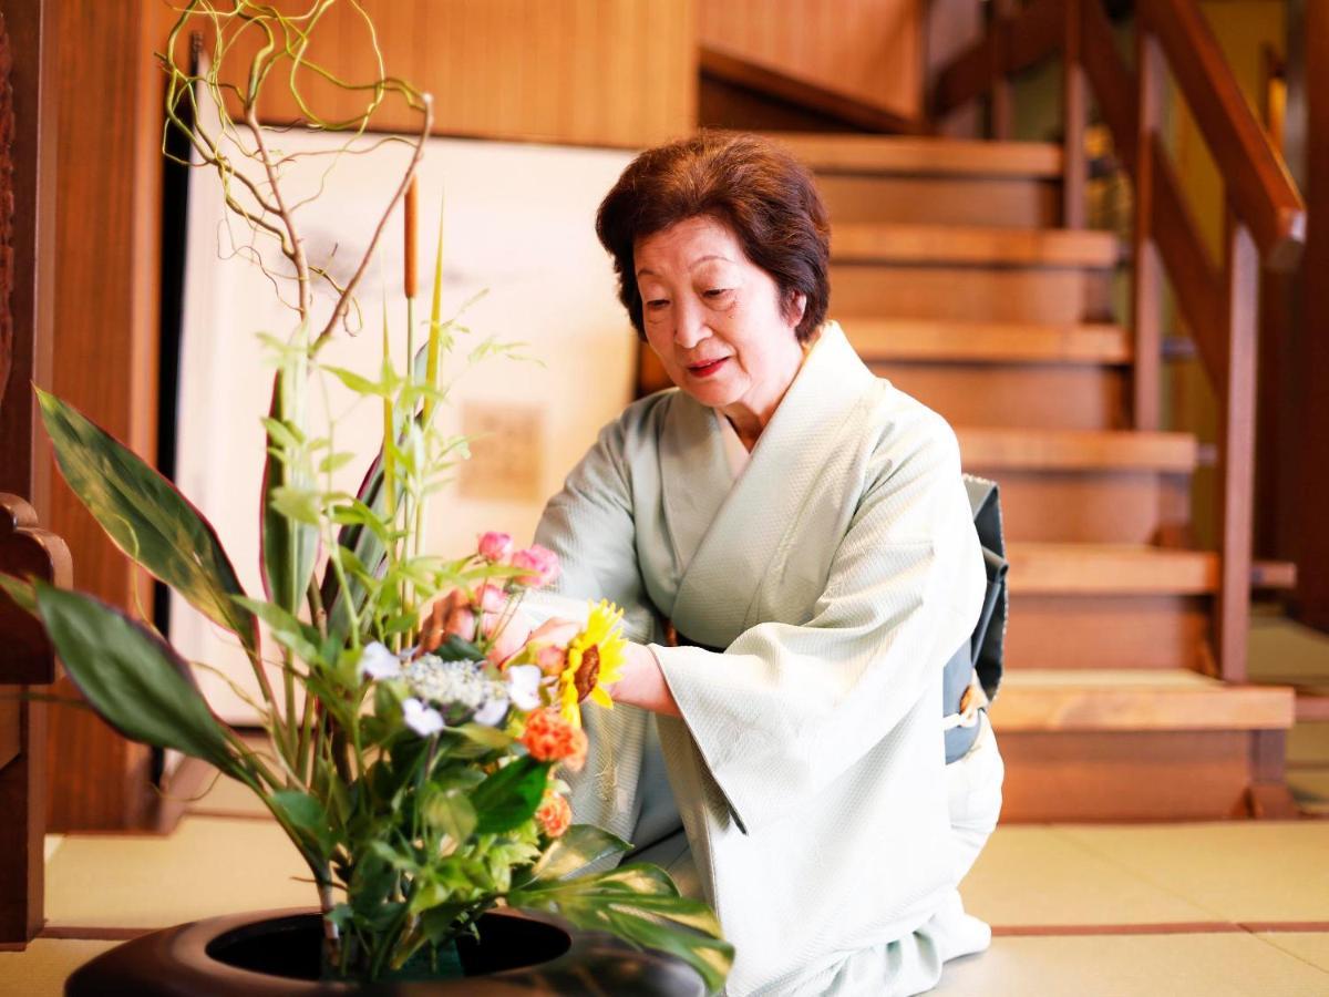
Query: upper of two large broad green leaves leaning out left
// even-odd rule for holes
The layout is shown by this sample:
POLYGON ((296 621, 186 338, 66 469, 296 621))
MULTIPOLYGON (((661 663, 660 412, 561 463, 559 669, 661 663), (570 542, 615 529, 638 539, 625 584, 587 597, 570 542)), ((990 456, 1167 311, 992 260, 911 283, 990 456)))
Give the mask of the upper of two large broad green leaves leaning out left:
POLYGON ((245 590, 211 524, 128 447, 36 391, 60 471, 116 546, 255 651, 254 617, 231 598, 245 590))

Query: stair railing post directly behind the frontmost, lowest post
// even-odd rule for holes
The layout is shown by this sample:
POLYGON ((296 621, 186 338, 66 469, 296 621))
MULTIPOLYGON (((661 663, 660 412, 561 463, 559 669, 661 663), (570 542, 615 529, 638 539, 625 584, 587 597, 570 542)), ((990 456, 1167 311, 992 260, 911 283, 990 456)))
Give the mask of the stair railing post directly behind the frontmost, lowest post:
MULTIPOLYGON (((1098 3, 1098 0, 1094 0, 1098 3)), ((1132 233, 1131 327, 1135 366, 1131 409, 1136 429, 1159 428, 1159 356, 1162 352, 1163 265, 1154 239, 1154 173, 1163 122, 1163 52, 1144 19, 1135 32, 1139 118, 1135 132, 1135 231, 1132 233)))

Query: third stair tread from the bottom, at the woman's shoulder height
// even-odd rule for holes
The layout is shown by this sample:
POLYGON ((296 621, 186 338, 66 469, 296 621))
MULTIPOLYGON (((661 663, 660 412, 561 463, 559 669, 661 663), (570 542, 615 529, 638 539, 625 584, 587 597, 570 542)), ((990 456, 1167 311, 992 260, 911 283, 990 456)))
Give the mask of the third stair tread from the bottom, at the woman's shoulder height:
POLYGON ((1152 471, 1185 475, 1199 463, 1189 433, 957 428, 965 469, 1152 471))

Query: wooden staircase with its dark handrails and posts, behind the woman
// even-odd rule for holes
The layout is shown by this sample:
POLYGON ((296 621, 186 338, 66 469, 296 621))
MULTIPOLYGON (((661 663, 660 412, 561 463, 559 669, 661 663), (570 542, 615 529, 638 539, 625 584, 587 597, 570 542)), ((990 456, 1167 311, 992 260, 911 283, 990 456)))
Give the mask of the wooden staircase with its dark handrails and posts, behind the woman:
MULTIPOLYGON (((1248 685, 1245 642, 1251 588, 1294 574, 1251 560, 1255 355, 1260 270, 1296 263, 1305 205, 1195 0, 1136 0, 1134 64, 1102 0, 1002 0, 969 20, 962 7, 929 8, 961 17, 948 28, 962 23, 965 40, 946 35, 928 112, 904 126, 797 80, 771 85, 769 66, 703 53, 703 80, 799 105, 780 120, 739 101, 726 126, 744 125, 743 108, 772 128, 827 121, 827 133, 771 137, 813 170, 829 207, 831 316, 876 372, 950 421, 968 471, 1001 485, 1003 820, 1292 815, 1282 771, 1297 703, 1286 686, 1248 685), (1063 142, 1005 141, 1010 77, 1050 58, 1063 142), (1163 141, 1168 74, 1223 181, 1220 259, 1163 141), (1131 181, 1128 243, 1086 229, 1090 100, 1131 181), (975 104, 994 141, 930 137, 973 130, 975 104), (1164 338, 1164 279, 1187 338, 1164 338), (1204 445, 1162 431, 1160 368, 1177 343, 1219 404, 1204 445), (1204 465, 1216 468, 1216 550, 1191 530, 1204 465)), ((667 383, 651 360, 647 388, 667 383)))

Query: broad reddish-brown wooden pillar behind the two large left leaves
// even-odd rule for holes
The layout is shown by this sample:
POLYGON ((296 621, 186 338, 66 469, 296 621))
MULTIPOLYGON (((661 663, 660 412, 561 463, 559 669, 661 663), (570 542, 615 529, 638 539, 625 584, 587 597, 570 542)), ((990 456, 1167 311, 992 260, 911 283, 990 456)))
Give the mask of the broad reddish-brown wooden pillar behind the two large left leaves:
MULTIPOLYGON (((157 413, 162 73, 153 60, 169 7, 64 0, 58 69, 60 201, 52 387, 152 460, 157 413)), ((149 580, 74 495, 52 485, 49 528, 73 552, 77 586, 152 611, 149 580)), ((56 691, 73 695, 69 679, 56 691)), ((137 826, 153 799, 152 754, 90 713, 52 707, 52 830, 137 826)))

